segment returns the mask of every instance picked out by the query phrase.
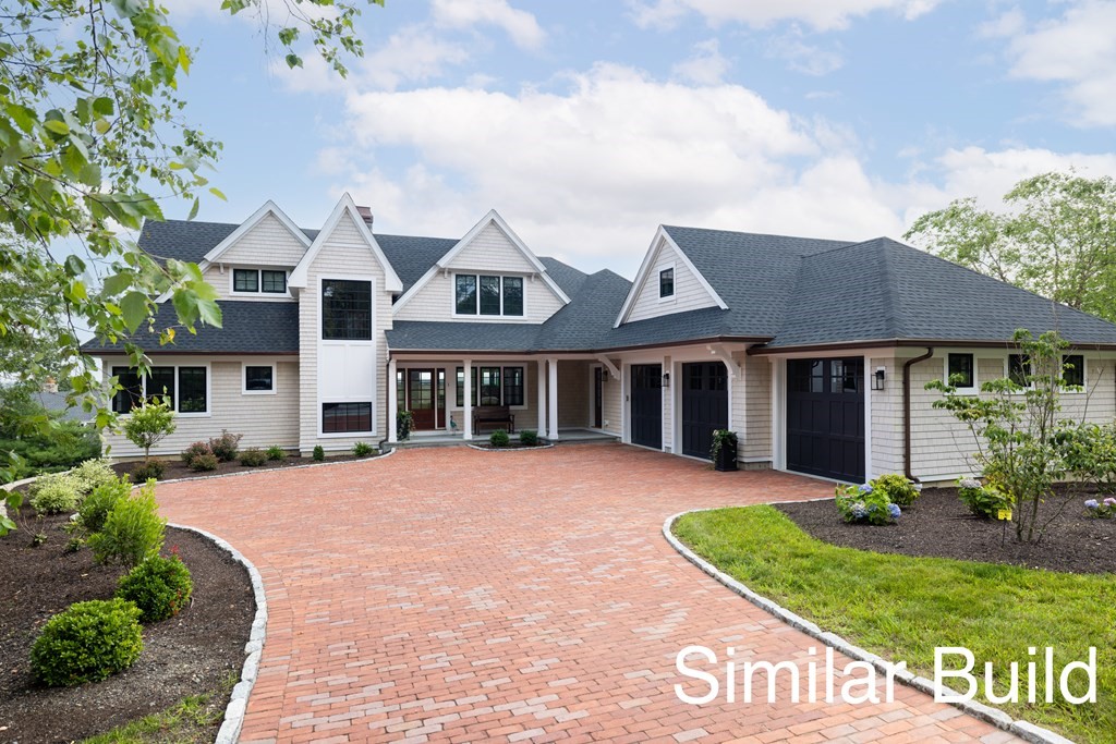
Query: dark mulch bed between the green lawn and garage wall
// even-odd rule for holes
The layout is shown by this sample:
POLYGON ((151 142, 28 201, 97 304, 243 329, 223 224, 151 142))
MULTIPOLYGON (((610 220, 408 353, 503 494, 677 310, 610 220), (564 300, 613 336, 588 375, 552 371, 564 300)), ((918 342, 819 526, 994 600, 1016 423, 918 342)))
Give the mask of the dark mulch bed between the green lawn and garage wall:
POLYGON ((777 509, 810 535, 835 545, 1069 573, 1116 572, 1116 520, 1084 516, 1081 502, 1091 495, 1060 486, 1059 497, 1040 506, 1039 524, 1050 518, 1054 522, 1038 543, 1016 542, 1014 523, 970 514, 956 489, 925 489, 912 506, 903 509, 898 523, 887 526, 847 524, 829 500, 778 504, 777 509))

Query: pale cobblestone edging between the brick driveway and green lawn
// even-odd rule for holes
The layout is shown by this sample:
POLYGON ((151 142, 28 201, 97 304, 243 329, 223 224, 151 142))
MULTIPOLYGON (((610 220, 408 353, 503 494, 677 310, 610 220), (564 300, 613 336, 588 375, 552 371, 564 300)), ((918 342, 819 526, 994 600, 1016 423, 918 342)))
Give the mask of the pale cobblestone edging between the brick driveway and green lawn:
MULTIPOLYGON (((819 499, 811 501, 821 501, 821 500, 819 499)), ((773 503, 783 503, 783 502, 773 502, 773 503)), ((723 508, 716 508, 716 509, 723 509, 723 508)), ((762 597, 756 593, 747 586, 744 586, 742 582, 732 578, 728 573, 718 570, 715 566, 706 561, 704 558, 698 555, 698 553, 690 550, 690 548, 683 544, 681 540, 674 537, 674 532, 672 531, 671 528, 674 526, 674 522, 676 522, 680 518, 684 516, 685 514, 695 514, 700 512, 710 512, 710 511, 715 511, 715 509, 692 509, 685 512, 679 512, 677 514, 674 514, 672 516, 667 516, 666 521, 663 522, 663 537, 666 538, 666 541, 671 543, 671 547, 673 547, 674 550, 679 551, 679 553, 681 553, 683 558, 685 558, 687 561, 690 561, 699 569, 701 569, 703 573, 712 577, 713 579, 716 579, 719 582, 731 589, 734 593, 743 597, 752 605, 769 612, 770 615, 773 615, 775 617, 779 618, 780 620, 791 626, 792 628, 801 630, 810 638, 819 640, 826 646, 833 648, 834 650, 839 651, 853 659, 859 661, 867 661, 879 671, 883 671, 884 674, 894 675, 894 677, 898 679, 899 683, 907 685, 908 687, 914 687, 915 689, 922 690, 923 693, 933 695, 935 697, 939 692, 954 696, 960 694, 956 690, 952 689, 951 687, 946 687, 945 685, 937 685, 933 679, 929 679, 926 677, 920 677, 915 674, 912 674, 911 671, 907 671, 906 669, 897 669, 895 665, 893 665, 887 659, 881 658, 875 654, 866 651, 859 646, 854 646, 853 644, 848 642, 840 636, 824 631, 814 622, 810 622, 806 618, 796 615, 795 612, 791 612, 787 608, 781 607, 780 605, 771 601, 767 597, 762 597)), ((1003 711, 992 707, 990 705, 984 705, 982 703, 977 703, 973 700, 955 702, 955 703, 950 702, 946 704, 952 705, 953 707, 959 708, 971 716, 980 718, 981 721, 990 723, 997 728, 1010 732, 1019 736, 1020 738, 1031 742, 1032 744, 1074 744, 1072 741, 1066 738, 1065 736, 1056 734, 1047 728, 1042 728, 1040 726, 1027 723, 1026 721, 1014 719, 1003 711)))

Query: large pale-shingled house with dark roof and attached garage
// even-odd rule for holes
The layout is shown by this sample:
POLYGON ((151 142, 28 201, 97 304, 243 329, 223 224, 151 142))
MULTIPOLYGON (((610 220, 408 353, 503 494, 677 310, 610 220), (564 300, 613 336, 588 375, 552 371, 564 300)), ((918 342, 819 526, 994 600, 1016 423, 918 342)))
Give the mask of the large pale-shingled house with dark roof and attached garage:
MULTIPOLYGON (((1017 328, 1072 341, 1086 392, 1067 415, 1116 414, 1116 326, 885 238, 661 226, 629 282, 536 255, 496 212, 460 239, 376 234, 346 195, 319 230, 268 202, 239 225, 148 223, 140 245, 198 262, 224 311, 172 347, 140 337, 146 379, 121 344, 86 346, 125 387, 118 413, 174 400, 164 455, 222 428, 302 453, 389 446, 402 409, 419 436, 469 441, 478 408, 507 406, 556 441, 589 429, 704 458, 731 428, 748 467, 949 481, 971 472, 971 436, 924 385, 1021 368, 1017 328)), ((157 323, 174 321, 164 303, 157 323)))

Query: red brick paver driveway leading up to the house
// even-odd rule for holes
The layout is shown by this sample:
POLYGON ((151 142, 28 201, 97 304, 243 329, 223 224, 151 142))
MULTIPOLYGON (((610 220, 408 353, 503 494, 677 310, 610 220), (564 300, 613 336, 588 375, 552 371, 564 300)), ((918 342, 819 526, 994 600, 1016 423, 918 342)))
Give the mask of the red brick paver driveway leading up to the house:
POLYGON ((772 661, 817 644, 687 563, 663 520, 828 493, 616 444, 158 486, 172 521, 228 539, 263 576, 244 743, 1007 740, 904 687, 855 707, 675 697, 689 644, 772 661))

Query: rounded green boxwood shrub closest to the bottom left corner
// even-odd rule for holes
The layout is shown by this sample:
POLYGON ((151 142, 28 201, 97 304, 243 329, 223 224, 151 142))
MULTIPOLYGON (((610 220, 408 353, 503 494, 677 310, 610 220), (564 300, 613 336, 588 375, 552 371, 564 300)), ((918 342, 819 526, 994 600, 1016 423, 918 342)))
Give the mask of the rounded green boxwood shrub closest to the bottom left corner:
POLYGON ((51 687, 98 682, 140 658, 140 608, 123 599, 70 605, 50 618, 31 646, 31 671, 51 687))

